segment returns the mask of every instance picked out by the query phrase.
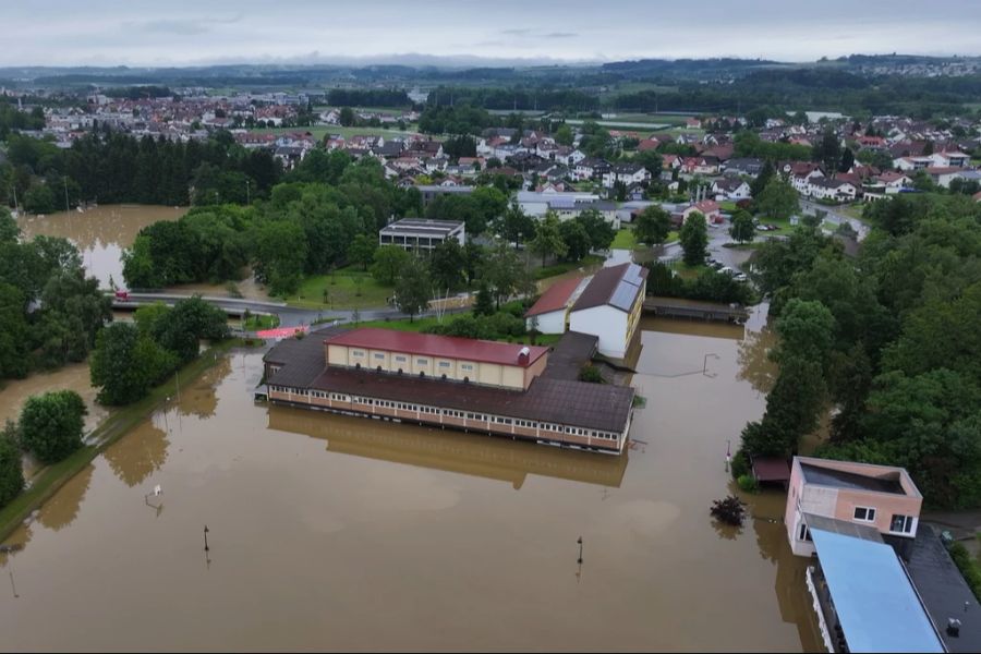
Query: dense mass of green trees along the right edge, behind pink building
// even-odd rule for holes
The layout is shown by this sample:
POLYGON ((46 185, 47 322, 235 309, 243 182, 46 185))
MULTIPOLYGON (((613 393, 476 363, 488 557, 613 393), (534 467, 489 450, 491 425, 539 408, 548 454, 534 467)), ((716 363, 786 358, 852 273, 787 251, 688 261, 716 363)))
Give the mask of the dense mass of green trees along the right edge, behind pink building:
POLYGON ((867 218, 857 257, 813 227, 759 251, 779 373, 740 456, 797 452, 831 407, 818 456, 901 465, 928 505, 981 506, 981 206, 900 196, 867 218))

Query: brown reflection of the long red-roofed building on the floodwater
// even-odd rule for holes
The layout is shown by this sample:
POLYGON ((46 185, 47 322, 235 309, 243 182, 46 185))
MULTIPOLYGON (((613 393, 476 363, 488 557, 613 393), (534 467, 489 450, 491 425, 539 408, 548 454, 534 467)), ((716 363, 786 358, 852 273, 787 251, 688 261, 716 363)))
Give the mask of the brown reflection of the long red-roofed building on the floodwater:
POLYGON ((269 408, 269 428, 327 440, 327 450, 499 480, 520 489, 529 474, 618 487, 628 456, 596 456, 456 431, 269 408))

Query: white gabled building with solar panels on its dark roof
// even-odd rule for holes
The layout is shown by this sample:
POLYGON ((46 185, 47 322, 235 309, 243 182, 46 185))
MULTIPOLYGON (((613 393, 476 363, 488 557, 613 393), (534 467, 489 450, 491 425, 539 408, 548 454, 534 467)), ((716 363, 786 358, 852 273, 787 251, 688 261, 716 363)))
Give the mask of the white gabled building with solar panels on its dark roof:
POLYGON ((603 268, 572 305, 569 329, 598 337, 601 354, 623 359, 640 324, 646 291, 646 268, 630 263, 603 268))

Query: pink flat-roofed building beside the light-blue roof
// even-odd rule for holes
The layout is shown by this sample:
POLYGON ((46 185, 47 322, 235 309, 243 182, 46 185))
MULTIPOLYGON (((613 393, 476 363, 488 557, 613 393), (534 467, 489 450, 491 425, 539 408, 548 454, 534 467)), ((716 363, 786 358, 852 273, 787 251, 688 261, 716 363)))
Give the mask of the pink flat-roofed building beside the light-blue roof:
POLYGON ((784 523, 794 554, 811 556, 809 517, 915 538, 922 505, 923 496, 903 468, 795 457, 784 523))

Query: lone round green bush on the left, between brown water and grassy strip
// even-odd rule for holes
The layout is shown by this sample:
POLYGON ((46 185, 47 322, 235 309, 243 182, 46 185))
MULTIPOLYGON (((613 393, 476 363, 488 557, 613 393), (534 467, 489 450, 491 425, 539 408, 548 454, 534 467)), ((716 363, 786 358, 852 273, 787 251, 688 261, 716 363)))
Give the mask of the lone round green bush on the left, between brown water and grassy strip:
POLYGON ((82 447, 86 413, 85 402, 73 390, 33 396, 21 411, 21 443, 43 463, 57 463, 82 447))

